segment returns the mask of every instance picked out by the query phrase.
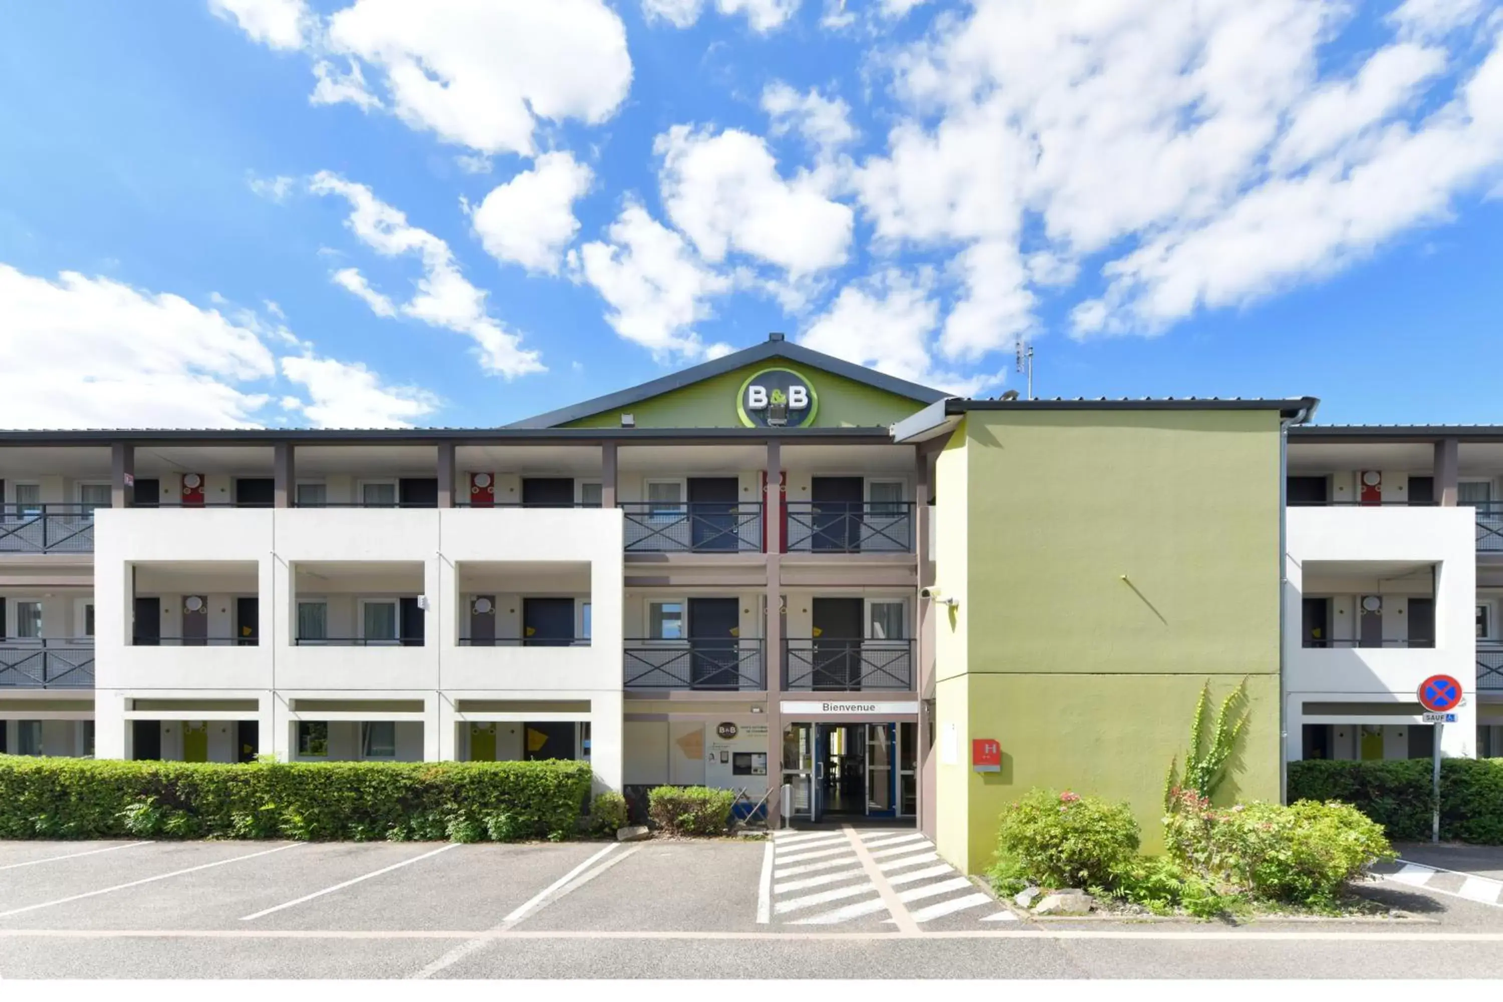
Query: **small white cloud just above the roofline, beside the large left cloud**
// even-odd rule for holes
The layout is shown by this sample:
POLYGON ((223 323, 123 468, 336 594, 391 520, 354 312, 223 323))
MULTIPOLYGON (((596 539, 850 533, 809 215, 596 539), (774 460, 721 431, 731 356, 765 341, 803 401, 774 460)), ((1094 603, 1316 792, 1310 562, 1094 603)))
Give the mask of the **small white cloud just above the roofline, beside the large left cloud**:
POLYGON ((415 418, 433 413, 437 398, 415 386, 386 386, 359 362, 338 362, 313 355, 281 359, 283 374, 307 389, 311 403, 283 400, 317 428, 410 428, 415 418))

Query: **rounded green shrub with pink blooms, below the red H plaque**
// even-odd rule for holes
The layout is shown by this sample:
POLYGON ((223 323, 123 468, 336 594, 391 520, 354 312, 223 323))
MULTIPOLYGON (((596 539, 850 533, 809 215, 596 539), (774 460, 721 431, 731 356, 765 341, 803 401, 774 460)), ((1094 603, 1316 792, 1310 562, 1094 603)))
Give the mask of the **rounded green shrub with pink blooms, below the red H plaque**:
POLYGON ((1033 790, 1003 811, 998 865, 1043 886, 1106 885, 1138 852, 1138 822, 1126 804, 1033 790))

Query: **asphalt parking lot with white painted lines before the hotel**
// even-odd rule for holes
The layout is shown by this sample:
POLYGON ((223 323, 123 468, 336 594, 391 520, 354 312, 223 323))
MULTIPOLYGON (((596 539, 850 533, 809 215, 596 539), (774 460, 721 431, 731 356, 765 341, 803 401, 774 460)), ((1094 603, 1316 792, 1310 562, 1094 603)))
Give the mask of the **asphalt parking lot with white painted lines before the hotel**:
POLYGON ((1019 918, 912 831, 0 843, 0 976, 1500 976, 1486 852, 1368 885, 1407 918, 1232 927, 1019 918))

